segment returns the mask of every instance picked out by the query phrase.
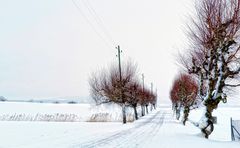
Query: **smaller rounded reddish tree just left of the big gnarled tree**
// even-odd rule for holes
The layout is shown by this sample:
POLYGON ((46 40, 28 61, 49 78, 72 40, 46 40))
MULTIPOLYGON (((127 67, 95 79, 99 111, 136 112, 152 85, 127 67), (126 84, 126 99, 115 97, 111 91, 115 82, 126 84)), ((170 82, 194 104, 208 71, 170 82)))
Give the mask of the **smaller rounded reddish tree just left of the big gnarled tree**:
POLYGON ((190 109, 196 103, 198 85, 193 77, 187 74, 180 74, 175 79, 170 96, 173 106, 177 108, 177 118, 180 116, 180 109, 183 108, 183 124, 185 125, 190 109))

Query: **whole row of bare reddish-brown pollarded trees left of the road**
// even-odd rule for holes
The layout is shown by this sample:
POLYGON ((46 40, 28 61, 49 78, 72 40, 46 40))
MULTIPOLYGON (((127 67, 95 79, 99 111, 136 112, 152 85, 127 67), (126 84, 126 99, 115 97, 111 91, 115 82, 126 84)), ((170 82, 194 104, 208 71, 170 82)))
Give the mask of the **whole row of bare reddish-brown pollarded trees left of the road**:
POLYGON ((121 66, 121 80, 118 65, 92 73, 89 78, 90 93, 97 104, 116 103, 122 107, 123 123, 126 123, 126 107, 134 109, 138 119, 137 106, 142 106, 142 115, 148 105, 156 108, 157 95, 140 83, 137 64, 126 62, 121 66))

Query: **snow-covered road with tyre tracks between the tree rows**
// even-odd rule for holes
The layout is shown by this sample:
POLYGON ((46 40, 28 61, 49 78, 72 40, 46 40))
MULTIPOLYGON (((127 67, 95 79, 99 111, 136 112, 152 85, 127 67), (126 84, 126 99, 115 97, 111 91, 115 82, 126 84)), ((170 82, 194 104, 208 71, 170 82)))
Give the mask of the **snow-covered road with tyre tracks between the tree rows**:
POLYGON ((152 138, 161 128, 166 112, 150 113, 146 118, 137 121, 130 129, 115 132, 111 135, 101 134, 92 140, 76 144, 73 147, 139 147, 151 143, 152 138))

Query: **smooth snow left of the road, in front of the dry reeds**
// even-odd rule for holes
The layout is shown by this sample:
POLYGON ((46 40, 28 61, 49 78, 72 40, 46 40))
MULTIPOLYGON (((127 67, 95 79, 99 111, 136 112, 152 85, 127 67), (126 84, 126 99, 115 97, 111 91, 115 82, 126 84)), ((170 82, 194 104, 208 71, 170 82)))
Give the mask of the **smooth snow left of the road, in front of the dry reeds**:
POLYGON ((66 148, 124 129, 119 122, 0 122, 1 148, 66 148), (121 127, 121 128, 119 128, 121 127))

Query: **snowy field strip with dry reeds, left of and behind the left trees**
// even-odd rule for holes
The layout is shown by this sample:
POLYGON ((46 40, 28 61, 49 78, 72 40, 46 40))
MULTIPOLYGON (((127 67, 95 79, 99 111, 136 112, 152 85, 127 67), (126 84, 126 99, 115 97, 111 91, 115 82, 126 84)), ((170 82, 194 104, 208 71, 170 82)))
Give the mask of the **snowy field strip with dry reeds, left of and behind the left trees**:
MULTIPOLYGON (((129 121, 134 119, 131 108, 127 108, 127 117, 129 121)), ((93 104, 0 102, 0 121, 95 122, 121 120, 121 107, 116 104, 95 106, 93 104)))

